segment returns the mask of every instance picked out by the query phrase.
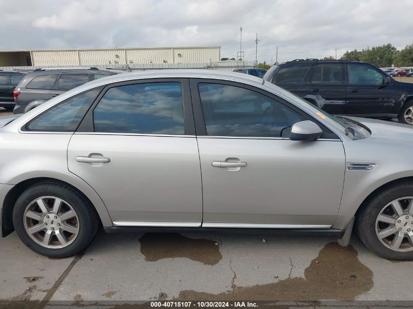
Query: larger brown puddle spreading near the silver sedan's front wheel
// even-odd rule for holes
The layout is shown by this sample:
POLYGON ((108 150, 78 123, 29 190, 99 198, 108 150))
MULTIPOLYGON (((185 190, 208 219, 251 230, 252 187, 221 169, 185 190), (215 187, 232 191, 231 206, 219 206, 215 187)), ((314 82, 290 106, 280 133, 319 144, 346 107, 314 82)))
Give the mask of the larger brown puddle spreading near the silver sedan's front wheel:
MULTIPOLYGON (((373 272, 357 258, 357 251, 329 243, 304 271, 305 278, 287 278, 275 283, 237 287, 219 294, 184 290, 179 300, 354 300, 373 287, 373 272)), ((276 261, 274 261, 276 263, 276 261)), ((234 277, 236 274, 234 273, 234 277)))

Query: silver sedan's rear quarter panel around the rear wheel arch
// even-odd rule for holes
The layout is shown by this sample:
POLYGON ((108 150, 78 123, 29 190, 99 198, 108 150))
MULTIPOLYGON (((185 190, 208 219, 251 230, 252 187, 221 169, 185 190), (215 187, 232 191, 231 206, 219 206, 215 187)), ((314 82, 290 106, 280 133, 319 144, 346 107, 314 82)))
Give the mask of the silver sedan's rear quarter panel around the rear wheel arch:
POLYGON ((108 210, 99 195, 67 169, 67 145, 72 134, 15 133, 8 130, 11 127, 0 129, 0 184, 17 185, 25 180, 43 177, 64 181, 87 196, 105 227, 112 226, 108 210))

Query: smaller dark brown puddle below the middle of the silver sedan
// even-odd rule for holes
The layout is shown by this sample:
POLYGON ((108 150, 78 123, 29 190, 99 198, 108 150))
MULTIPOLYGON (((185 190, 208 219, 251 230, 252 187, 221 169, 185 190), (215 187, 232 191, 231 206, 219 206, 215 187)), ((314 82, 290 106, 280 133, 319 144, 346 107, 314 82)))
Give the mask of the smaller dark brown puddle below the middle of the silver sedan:
POLYGON ((209 239, 188 238, 178 233, 146 233, 139 242, 146 261, 183 257, 215 265, 222 259, 219 245, 209 239))

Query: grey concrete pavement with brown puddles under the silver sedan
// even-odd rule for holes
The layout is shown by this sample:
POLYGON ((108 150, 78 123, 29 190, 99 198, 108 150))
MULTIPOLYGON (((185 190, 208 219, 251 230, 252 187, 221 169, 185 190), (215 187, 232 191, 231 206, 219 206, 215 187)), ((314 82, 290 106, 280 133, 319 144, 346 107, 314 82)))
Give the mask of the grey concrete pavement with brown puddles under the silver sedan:
POLYGON ((105 234, 76 257, 49 259, 0 239, 0 299, 409 300, 413 261, 321 236, 105 234))

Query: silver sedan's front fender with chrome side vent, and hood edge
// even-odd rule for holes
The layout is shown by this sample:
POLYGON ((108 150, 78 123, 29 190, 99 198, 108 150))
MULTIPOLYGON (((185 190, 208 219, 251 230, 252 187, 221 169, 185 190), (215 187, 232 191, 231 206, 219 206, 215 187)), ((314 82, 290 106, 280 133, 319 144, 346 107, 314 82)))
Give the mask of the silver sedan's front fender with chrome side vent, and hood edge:
POLYGON ((344 229, 363 201, 377 188, 392 181, 413 176, 409 156, 399 156, 400 144, 412 138, 413 128, 405 124, 353 118, 371 129, 369 138, 343 141, 348 163, 373 163, 371 170, 348 170, 340 211, 333 228, 344 229), (386 145, 384 147, 383 145, 386 145))

